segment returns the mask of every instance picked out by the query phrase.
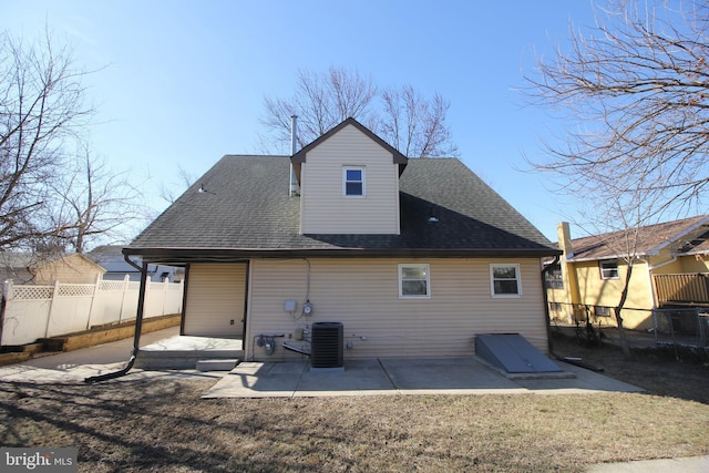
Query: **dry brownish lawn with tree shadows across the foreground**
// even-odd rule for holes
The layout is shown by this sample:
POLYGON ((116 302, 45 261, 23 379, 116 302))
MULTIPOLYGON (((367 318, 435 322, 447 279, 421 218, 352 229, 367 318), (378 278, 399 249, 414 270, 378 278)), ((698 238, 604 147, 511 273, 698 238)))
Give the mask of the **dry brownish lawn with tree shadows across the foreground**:
POLYGON ((201 400, 214 379, 6 382, 0 444, 75 446, 85 472, 547 472, 709 453, 709 404, 696 393, 707 367, 644 353, 636 371, 656 374, 624 377, 617 350, 594 353, 649 393, 201 400), (693 373, 691 392, 677 370, 693 373))

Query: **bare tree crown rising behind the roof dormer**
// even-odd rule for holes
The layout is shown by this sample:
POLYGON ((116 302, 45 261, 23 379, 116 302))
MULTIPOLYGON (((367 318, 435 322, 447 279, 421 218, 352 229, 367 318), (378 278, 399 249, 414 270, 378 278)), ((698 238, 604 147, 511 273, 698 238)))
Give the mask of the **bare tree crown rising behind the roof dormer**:
POLYGON ((330 68, 328 73, 299 71, 295 95, 289 100, 266 97, 264 106, 261 122, 278 143, 290 141, 291 115, 298 115, 299 146, 353 117, 407 156, 456 153, 445 125, 450 104, 443 97, 436 94, 432 101, 425 101, 410 85, 380 93, 371 78, 357 71, 342 68, 330 68))

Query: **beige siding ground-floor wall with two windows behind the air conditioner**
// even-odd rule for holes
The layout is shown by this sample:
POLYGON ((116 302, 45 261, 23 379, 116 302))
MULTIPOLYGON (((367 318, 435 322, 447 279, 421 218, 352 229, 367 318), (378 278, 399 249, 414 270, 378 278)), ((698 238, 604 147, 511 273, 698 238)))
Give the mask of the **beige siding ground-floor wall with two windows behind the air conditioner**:
MULTIPOLYGON (((547 350, 541 263, 538 259, 297 259, 253 260, 249 275, 247 357, 256 360, 300 358, 298 329, 314 322, 342 322, 346 359, 378 357, 465 357, 474 353, 475 333, 518 332, 547 350), (399 298, 402 263, 430 265, 431 297, 399 298), (490 264, 517 263, 522 297, 491 296, 490 264), (296 299, 296 311, 284 301, 296 299), (314 305, 300 317, 302 302, 314 305), (260 333, 284 333, 276 351, 254 347, 260 333)), ((306 345, 307 347, 307 345, 306 345)))

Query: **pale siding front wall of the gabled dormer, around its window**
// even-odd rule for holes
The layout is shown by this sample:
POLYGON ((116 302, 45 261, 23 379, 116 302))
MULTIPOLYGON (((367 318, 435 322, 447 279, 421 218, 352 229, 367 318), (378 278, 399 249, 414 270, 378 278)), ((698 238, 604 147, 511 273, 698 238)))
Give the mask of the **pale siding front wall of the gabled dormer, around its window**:
POLYGON ((302 234, 399 234, 398 166, 354 126, 307 154, 300 189, 302 234), (343 166, 364 167, 364 197, 342 196, 343 166))

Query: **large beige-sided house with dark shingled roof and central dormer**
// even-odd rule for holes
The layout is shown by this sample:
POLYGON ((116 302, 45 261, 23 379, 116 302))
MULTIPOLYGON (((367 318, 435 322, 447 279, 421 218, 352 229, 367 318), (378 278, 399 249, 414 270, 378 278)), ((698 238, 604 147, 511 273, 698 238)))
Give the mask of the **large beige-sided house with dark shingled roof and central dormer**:
POLYGON ((470 356, 495 332, 546 351, 559 254, 461 161, 353 119, 292 156, 224 156, 124 253, 186 267, 182 333, 256 360, 299 357, 281 342, 307 350, 315 322, 342 323, 345 358, 470 356))

